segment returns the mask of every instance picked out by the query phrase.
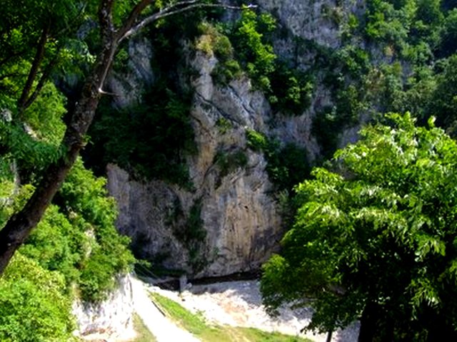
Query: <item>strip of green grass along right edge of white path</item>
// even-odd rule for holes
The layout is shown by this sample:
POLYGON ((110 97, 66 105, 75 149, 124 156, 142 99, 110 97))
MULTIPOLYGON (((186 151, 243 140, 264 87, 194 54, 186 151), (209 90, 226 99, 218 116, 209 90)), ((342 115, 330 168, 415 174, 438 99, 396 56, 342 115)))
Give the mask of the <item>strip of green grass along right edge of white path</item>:
POLYGON ((183 306, 157 293, 151 299, 164 313, 203 342, 311 342, 307 338, 268 333, 256 328, 218 326, 208 323, 202 314, 192 314, 183 306))

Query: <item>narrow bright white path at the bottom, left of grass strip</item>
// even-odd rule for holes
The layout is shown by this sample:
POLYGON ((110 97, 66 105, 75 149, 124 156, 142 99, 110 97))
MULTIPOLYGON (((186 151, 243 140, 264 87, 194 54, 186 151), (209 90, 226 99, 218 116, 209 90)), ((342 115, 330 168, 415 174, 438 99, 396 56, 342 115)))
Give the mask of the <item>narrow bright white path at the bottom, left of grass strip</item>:
POLYGON ((144 283, 132 279, 134 310, 146 327, 156 336, 158 342, 200 342, 194 335, 179 328, 166 318, 149 299, 144 283))

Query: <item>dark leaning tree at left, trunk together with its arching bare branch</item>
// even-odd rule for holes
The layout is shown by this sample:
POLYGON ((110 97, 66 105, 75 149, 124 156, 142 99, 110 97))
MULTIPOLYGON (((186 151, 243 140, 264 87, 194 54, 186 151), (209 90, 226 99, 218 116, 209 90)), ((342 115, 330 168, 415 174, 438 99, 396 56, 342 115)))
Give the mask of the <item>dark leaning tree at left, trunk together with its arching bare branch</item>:
MULTIPOLYGON (((64 1, 65 3, 66 1, 64 1)), ((47 2, 44 1, 43 4, 47 2)), ((38 8, 42 5, 40 1, 38 8)), ((89 1, 89 6, 92 4, 89 1)), ((31 230, 36 227, 44 211, 51 199, 56 194, 57 190, 64 181, 71 166, 74 165, 79 151, 86 142, 86 132, 94 118, 95 110, 99 105, 101 95, 104 92, 104 81, 113 63, 116 51, 118 51, 121 42, 134 36, 141 31, 145 26, 164 19, 168 16, 176 15, 184 11, 201 7, 224 7, 229 9, 239 9, 239 7, 225 6, 222 4, 209 4, 199 0, 184 0, 184 1, 160 1, 160 0, 100 0, 98 7, 98 27, 99 35, 99 51, 96 54, 94 63, 91 64, 89 76, 84 80, 84 85, 81 88, 79 97, 69 109, 67 114, 69 120, 66 123, 64 138, 61 141, 60 155, 55 160, 51 161, 39 177, 39 182, 36 189, 26 202, 24 207, 16 212, 3 229, 0 231, 0 274, 3 273, 6 265, 9 263, 14 252, 23 244, 26 237, 29 236, 31 230), (123 14, 126 15, 123 15, 123 14)), ((45 13, 47 13, 45 11, 45 13)), ((51 19, 49 18, 51 21, 51 19)), ((8 31, 8 30, 6 30, 8 31)), ((39 63, 43 61, 40 46, 45 46, 46 37, 48 36, 46 28, 41 34, 39 48, 37 48, 36 56, 39 63), (44 41, 44 42, 43 42, 44 41), (40 55, 40 56, 39 56, 40 55)), ((36 60, 36 58, 34 58, 36 60)), ((30 73, 32 78, 36 77, 33 69, 38 68, 32 63, 30 73)), ((33 83, 33 81, 31 82, 33 83)), ((27 90, 29 82, 26 81, 24 86, 25 96, 21 95, 17 105, 18 111, 21 111, 21 105, 28 103, 31 90, 27 90), (24 98, 25 102, 21 99, 24 98)), ((23 92, 23 93, 24 93, 23 92)))

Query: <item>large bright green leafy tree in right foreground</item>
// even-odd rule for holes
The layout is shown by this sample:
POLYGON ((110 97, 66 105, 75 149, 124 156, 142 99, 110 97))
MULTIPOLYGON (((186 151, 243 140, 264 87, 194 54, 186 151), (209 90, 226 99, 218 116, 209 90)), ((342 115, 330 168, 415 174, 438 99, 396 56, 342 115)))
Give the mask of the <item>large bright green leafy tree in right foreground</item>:
POLYGON ((455 339, 457 144, 433 120, 388 118, 296 187, 263 300, 311 305, 322 332, 360 320, 359 341, 455 339))

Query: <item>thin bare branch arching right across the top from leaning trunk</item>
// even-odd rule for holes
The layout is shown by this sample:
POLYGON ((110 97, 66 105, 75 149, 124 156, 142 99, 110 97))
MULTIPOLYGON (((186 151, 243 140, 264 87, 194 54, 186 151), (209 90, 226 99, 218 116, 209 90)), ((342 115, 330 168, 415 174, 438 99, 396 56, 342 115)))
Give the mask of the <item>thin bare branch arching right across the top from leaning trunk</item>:
POLYGON ((243 9, 252 9, 256 8, 256 5, 248 5, 248 6, 230 6, 230 5, 224 5, 224 4, 201 4, 197 1, 181 1, 179 3, 176 3, 172 6, 167 7, 166 9, 163 9, 157 13, 151 14, 151 16, 147 16, 145 19, 139 22, 139 24, 136 24, 135 26, 132 26, 127 30, 122 36, 119 37, 119 42, 123 41, 126 38, 129 38, 130 36, 133 36, 134 34, 138 33, 141 28, 144 28, 144 26, 147 26, 154 21, 158 21, 159 19, 166 18, 167 16, 174 16, 176 14, 180 14, 186 11, 190 11, 191 9, 197 9, 197 8, 222 8, 222 9, 235 9, 235 10, 243 10, 243 9), (181 8, 176 8, 178 6, 183 6, 181 8))

